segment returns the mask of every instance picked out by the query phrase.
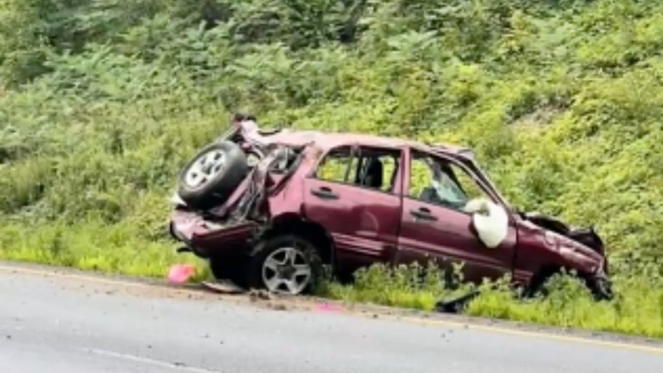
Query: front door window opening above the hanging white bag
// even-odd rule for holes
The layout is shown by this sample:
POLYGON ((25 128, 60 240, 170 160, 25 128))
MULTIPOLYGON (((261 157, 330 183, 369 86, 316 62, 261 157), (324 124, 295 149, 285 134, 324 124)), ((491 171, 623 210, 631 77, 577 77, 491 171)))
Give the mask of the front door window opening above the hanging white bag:
MULTIPOLYGON (((410 163, 410 198, 463 210, 475 198, 489 198, 461 166, 414 152, 410 163)), ((490 198, 489 198, 490 199, 490 198)))

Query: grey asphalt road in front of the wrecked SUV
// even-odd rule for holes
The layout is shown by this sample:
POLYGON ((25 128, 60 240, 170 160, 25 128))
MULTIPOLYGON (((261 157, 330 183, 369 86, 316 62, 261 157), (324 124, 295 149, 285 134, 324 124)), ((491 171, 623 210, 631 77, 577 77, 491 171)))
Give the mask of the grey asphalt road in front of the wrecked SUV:
POLYGON ((0 263, 0 372, 663 372, 655 344, 283 308, 0 263))

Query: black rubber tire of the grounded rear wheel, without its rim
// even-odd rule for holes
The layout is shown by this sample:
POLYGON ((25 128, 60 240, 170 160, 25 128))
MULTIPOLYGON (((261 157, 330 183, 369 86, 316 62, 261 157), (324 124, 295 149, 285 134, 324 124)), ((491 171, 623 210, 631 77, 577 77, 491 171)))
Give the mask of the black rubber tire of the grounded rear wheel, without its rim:
MULTIPOLYGON (((283 265, 284 268, 279 269, 284 271, 282 278, 289 278, 288 272, 291 270, 287 267, 289 263, 283 265)), ((292 269, 294 270, 294 269, 292 269)), ((273 271, 276 274, 276 271, 273 271)), ((311 242, 301 238, 299 236, 294 236, 291 234, 284 234, 279 236, 272 236, 271 238, 266 238, 258 242, 258 245, 253 249, 251 256, 249 258, 248 266, 248 282, 249 287, 256 289, 268 289, 269 291, 278 291, 289 294, 309 294, 313 291, 316 291, 321 285, 323 278, 323 261, 320 258, 318 250, 311 244, 311 242), (282 288, 273 289, 270 288, 269 284, 265 282, 265 276, 263 276, 263 271, 267 271, 267 276, 271 269, 265 269, 266 262, 268 258, 280 259, 280 251, 287 249, 295 249, 297 251, 297 257, 294 262, 296 265, 305 264, 310 268, 309 280, 305 286, 301 287, 300 283, 297 283, 297 287, 301 289, 296 289, 293 291, 287 285, 283 285, 282 288)), ((297 277, 302 280, 303 278, 297 277)))

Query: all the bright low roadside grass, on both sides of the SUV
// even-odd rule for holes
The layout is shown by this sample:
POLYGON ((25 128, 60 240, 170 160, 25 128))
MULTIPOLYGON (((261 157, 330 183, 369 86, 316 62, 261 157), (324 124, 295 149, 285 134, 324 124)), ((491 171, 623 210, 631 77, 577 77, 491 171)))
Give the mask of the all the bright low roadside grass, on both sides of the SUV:
MULTIPOLYGON (((0 258, 75 267, 134 276, 164 277, 171 265, 192 262, 192 281, 211 278, 204 260, 176 254, 171 240, 141 238, 141 227, 130 224, 81 222, 77 226, 49 224, 30 231, 20 224, 3 226, 0 258)), ((467 294, 474 285, 456 274, 454 287, 445 286, 435 267, 390 269, 374 265, 355 274, 350 285, 325 284, 321 296, 349 303, 374 303, 433 311, 439 300, 467 294)), ((615 278, 615 299, 596 302, 589 291, 570 276, 550 280, 550 294, 523 299, 508 287, 508 279, 486 283, 465 313, 526 323, 576 327, 663 338, 663 287, 642 278, 615 278)))

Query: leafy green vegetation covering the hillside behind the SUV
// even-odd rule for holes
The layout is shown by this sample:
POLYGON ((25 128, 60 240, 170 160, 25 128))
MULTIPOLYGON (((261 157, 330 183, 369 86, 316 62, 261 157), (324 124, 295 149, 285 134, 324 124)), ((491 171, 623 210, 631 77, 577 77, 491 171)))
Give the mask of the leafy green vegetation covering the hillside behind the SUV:
MULTIPOLYGON (((660 312, 661 15, 637 0, 2 0, 0 256, 162 274, 180 166, 247 110, 468 144, 515 206, 596 224, 633 284, 623 309, 660 312)), ((554 298, 482 299, 470 312, 562 323, 520 311, 554 298)), ((619 323, 645 325, 633 312, 619 323)))

